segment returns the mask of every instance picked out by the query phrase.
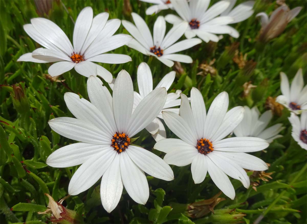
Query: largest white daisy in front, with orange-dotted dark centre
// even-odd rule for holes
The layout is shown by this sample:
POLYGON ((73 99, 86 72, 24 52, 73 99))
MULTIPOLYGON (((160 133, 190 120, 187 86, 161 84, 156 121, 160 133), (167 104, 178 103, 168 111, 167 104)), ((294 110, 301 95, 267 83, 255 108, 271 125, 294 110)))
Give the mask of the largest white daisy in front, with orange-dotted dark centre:
POLYGON ((46 163, 52 167, 82 164, 70 180, 70 195, 84 192, 102 176, 100 195, 107 212, 119 203, 123 186, 134 201, 145 204, 149 187, 144 172, 162 180, 173 180, 173 171, 160 157, 130 141, 160 113, 166 89, 153 90, 133 113, 133 85, 125 70, 116 78, 113 97, 94 76, 87 80, 87 91, 91 102, 75 93, 64 95, 68 109, 76 118, 49 121, 53 131, 79 143, 56 150, 46 163))

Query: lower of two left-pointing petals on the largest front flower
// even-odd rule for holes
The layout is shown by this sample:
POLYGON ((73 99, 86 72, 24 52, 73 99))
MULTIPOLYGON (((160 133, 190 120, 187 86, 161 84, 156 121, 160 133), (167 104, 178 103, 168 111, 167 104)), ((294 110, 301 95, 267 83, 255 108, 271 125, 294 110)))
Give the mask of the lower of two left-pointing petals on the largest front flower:
POLYGON ((84 163, 110 146, 78 142, 59 148, 49 155, 46 163, 52 167, 70 167, 84 163))

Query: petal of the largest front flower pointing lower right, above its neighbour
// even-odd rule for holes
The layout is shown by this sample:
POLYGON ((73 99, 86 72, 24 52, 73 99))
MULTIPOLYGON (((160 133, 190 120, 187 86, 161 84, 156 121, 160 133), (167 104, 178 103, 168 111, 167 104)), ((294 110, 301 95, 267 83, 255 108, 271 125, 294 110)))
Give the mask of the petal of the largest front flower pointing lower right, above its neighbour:
POLYGON ((138 146, 130 145, 126 150, 132 161, 145 173, 150 176, 162 179, 173 180, 174 173, 170 166, 156 154, 140 148, 138 146))

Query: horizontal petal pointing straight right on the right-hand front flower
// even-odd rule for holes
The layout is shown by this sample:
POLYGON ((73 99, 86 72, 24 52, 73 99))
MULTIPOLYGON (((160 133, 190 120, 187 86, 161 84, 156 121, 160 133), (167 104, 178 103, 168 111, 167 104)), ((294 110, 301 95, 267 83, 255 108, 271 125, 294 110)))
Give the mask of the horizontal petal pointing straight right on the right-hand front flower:
POLYGON ((214 150, 225 152, 257 152, 268 146, 266 140, 256 137, 232 137, 213 142, 214 150))

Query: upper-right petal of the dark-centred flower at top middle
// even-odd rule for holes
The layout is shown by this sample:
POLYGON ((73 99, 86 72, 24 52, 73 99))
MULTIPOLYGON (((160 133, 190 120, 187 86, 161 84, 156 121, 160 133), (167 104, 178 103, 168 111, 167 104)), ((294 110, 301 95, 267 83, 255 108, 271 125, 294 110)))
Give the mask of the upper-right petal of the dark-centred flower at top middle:
POLYGON ((169 32, 165 35, 163 42, 162 42, 162 49, 166 49, 175 43, 184 33, 188 27, 187 22, 182 22, 179 24, 174 25, 169 32))

